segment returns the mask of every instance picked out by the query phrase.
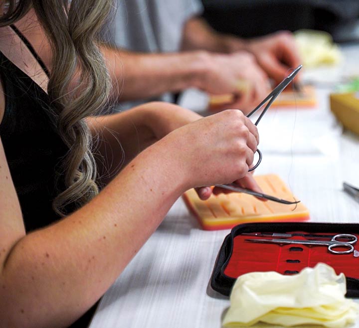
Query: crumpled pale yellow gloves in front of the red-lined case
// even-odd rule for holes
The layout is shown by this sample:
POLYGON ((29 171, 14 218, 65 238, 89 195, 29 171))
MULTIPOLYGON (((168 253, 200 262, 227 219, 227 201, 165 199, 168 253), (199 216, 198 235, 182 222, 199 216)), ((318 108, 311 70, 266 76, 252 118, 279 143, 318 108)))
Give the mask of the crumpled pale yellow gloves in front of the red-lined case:
POLYGON ((293 276, 248 273, 233 286, 223 326, 263 322, 284 327, 306 324, 343 328, 354 323, 359 314, 359 305, 346 299, 345 294, 344 274, 336 275, 324 263, 293 276))

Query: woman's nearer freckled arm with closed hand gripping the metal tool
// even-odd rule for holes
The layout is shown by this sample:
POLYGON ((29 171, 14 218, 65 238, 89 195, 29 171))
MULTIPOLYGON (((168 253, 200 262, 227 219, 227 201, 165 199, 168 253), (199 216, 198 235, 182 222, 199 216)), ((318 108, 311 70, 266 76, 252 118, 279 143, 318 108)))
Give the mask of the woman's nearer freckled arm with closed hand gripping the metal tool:
POLYGON ((237 110, 194 121, 141 152, 87 205, 29 234, 0 143, 3 327, 54 328, 75 321, 114 282, 182 192, 246 174, 257 138, 237 110))

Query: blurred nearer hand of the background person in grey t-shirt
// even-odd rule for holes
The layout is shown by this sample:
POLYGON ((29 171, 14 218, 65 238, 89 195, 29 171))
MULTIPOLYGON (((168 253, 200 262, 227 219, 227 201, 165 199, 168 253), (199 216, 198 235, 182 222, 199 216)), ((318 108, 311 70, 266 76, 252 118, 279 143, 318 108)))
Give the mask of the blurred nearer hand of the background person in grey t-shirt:
POLYGON ((230 108, 247 113, 270 91, 266 73, 258 66, 255 57, 246 51, 205 53, 203 65, 205 68, 198 87, 212 95, 233 95, 233 102, 227 104, 230 108))

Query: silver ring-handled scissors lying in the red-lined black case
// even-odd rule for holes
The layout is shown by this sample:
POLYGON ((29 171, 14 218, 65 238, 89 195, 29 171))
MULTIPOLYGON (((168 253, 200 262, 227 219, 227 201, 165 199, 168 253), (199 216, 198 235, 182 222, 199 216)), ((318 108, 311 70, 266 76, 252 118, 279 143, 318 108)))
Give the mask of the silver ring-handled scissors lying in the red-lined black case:
POLYGON ((252 243, 267 243, 267 244, 300 244, 300 245, 327 245, 328 251, 332 254, 349 254, 354 252, 354 244, 358 241, 357 236, 342 233, 333 236, 331 240, 300 240, 300 239, 245 239, 252 243), (350 241, 340 241, 338 239, 346 238, 350 241), (346 251, 336 251, 334 248, 344 247, 348 248, 346 251))

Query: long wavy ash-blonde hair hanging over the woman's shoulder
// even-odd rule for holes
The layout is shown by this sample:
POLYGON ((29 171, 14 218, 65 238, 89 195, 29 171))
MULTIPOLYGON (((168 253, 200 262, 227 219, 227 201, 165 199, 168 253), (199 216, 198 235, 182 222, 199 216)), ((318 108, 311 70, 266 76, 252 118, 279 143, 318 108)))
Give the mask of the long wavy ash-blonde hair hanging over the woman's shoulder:
POLYGON ((48 96, 58 134, 69 148, 61 166, 66 189, 60 190, 53 200, 54 210, 62 216, 67 205, 79 207, 98 193, 92 137, 85 118, 104 108, 111 89, 98 40, 113 1, 69 2, 8 0, 0 17, 0 26, 9 25, 33 7, 51 44, 48 96))

